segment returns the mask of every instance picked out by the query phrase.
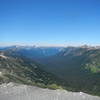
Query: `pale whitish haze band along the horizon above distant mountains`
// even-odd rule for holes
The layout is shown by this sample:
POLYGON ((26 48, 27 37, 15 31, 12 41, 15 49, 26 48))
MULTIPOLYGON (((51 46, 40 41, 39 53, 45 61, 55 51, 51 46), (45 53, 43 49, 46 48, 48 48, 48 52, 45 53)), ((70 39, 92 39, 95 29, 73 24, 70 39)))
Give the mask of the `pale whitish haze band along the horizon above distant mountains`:
POLYGON ((68 46, 100 46, 100 44, 93 43, 6 43, 0 42, 0 47, 9 47, 9 46, 34 46, 34 47, 68 47, 68 46))

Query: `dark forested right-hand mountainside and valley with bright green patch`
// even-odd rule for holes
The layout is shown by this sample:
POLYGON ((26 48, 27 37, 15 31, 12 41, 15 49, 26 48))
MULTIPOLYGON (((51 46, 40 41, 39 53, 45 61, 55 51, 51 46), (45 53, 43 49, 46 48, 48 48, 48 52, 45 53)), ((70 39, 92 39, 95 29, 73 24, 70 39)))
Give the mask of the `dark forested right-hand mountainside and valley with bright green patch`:
POLYGON ((100 96, 100 49, 69 47, 42 63, 65 82, 65 89, 100 96))

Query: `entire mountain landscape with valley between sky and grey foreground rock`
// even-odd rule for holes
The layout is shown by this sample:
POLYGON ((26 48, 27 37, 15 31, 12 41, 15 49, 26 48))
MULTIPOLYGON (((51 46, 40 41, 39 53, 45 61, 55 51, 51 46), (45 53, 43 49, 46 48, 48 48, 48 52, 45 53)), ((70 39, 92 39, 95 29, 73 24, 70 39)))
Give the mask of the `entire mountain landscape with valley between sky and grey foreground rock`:
POLYGON ((100 47, 13 46, 0 51, 1 82, 53 84, 100 96, 100 47))

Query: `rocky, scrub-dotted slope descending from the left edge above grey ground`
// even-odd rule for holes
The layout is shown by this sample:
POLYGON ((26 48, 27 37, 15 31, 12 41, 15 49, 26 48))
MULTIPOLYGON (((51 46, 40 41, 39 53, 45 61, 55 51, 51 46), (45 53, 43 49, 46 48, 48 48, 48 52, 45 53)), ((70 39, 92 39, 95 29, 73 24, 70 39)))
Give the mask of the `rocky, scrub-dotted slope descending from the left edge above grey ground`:
POLYGON ((59 80, 43 71, 40 64, 21 55, 0 52, 0 83, 16 82, 40 87, 59 88, 59 80))

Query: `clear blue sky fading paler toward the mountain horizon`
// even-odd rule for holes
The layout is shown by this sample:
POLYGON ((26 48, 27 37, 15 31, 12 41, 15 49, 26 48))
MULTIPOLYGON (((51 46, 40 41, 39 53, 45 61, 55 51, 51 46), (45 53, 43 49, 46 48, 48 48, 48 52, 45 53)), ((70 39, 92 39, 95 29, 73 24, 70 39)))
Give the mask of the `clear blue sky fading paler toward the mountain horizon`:
POLYGON ((0 45, 100 44, 100 0, 0 0, 0 45))

